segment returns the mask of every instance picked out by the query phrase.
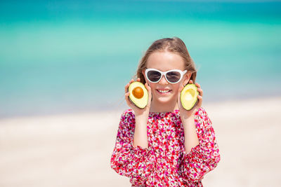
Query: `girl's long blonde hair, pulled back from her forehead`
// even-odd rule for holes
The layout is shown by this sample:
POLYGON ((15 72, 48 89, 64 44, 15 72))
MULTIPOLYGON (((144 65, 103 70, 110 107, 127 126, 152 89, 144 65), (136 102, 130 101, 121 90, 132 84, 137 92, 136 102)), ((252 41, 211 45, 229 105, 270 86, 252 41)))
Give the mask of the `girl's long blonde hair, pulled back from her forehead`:
POLYGON ((145 77, 143 76, 143 69, 146 68, 148 57, 154 52, 164 52, 168 51, 171 53, 176 53, 183 58, 185 62, 185 69, 189 72, 192 72, 190 80, 195 83, 197 70, 195 69, 195 63, 188 53, 188 49, 185 46, 185 43, 177 37, 159 39, 151 44, 151 46, 146 50, 145 55, 141 58, 141 61, 138 64, 138 69, 136 71, 136 78, 141 78, 141 83, 145 84, 145 77))

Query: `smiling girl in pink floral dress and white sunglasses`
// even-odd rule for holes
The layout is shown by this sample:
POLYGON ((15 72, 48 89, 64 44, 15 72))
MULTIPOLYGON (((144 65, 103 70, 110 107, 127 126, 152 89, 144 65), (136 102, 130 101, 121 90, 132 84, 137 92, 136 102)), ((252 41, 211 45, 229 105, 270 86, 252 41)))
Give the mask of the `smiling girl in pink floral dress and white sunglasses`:
POLYGON ((146 51, 136 74, 148 90, 148 105, 138 109, 129 101, 133 79, 125 86, 131 109, 122 113, 110 165, 128 176, 132 186, 202 186, 204 174, 218 164, 218 144, 201 107, 203 90, 195 83, 196 73, 181 39, 159 39, 146 51), (173 78, 165 74, 169 70, 176 70, 173 78), (190 111, 179 99, 188 83, 195 83, 200 93, 190 111))

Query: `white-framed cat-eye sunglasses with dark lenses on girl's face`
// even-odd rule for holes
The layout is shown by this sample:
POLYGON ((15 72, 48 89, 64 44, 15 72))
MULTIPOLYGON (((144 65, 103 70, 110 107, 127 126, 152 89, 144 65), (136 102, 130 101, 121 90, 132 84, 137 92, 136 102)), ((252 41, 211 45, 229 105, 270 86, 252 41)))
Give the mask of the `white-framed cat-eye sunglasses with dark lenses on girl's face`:
POLYGON ((175 84, 181 81, 181 78, 183 78, 183 75, 187 72, 181 71, 179 69, 171 69, 169 71, 159 71, 158 69, 148 68, 145 69, 145 76, 148 78, 148 81, 151 83, 158 83, 162 76, 165 76, 166 81, 169 83, 175 84))

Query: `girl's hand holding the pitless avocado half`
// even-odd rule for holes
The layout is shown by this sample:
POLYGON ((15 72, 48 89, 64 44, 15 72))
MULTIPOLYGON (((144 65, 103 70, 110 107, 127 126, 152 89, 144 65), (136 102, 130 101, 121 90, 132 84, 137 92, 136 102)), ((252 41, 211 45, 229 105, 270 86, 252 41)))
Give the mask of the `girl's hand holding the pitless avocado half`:
MULTIPOLYGON (((193 81, 190 80, 189 84, 193 84, 193 81)), ((193 108, 190 111, 187 111, 183 108, 183 106, 181 105, 181 90, 183 90, 183 85, 181 86, 181 88, 178 90, 178 107, 180 110, 180 115, 182 119, 188 119, 190 117, 194 117, 195 113, 198 109, 200 109, 201 105, 202 105, 202 97, 203 97, 203 90, 200 86, 200 84, 195 83, 195 85, 197 86, 197 91, 199 92, 199 95, 197 96, 198 98, 198 102, 195 106, 193 106, 193 108)))

